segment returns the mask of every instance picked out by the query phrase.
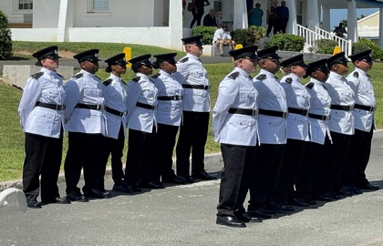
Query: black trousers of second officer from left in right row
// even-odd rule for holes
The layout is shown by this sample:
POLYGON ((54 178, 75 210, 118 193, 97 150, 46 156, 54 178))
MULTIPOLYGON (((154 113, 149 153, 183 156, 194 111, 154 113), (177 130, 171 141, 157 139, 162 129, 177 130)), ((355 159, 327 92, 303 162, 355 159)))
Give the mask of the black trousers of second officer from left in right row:
POLYGON ((285 144, 256 146, 257 159, 252 165, 248 210, 263 210, 266 197, 274 190, 284 157, 285 144))

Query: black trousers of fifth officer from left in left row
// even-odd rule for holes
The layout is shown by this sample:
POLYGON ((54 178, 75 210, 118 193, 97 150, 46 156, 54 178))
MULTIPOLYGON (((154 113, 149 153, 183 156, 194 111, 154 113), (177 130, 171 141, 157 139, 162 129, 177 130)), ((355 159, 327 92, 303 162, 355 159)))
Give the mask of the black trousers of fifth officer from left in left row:
POLYGON ((159 123, 157 128, 156 166, 160 168, 162 179, 172 179, 175 177, 172 156, 179 127, 159 123))

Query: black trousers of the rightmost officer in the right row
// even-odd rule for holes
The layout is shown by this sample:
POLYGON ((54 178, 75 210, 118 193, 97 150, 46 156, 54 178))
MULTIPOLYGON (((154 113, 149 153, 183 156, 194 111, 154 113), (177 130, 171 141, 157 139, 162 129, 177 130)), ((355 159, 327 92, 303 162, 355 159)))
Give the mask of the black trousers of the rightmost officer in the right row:
POLYGON ((343 179, 349 185, 364 185, 368 183, 365 170, 371 153, 371 141, 374 130, 363 131, 355 129, 351 139, 349 168, 344 172, 343 179))

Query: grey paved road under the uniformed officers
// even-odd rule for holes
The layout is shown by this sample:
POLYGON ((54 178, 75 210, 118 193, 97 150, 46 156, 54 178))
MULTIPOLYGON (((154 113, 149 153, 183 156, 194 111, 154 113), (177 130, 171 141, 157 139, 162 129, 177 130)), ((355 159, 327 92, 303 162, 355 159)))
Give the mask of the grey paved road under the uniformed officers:
MULTIPOLYGON (((313 157, 315 158, 315 157, 313 157)), ((383 188, 383 131, 375 133, 367 178, 383 188)), ((206 156, 219 175, 220 155, 206 156)), ((107 179, 107 189, 112 181, 107 179)), ((383 190, 332 202, 244 229, 215 224, 220 180, 201 181, 108 200, 0 209, 0 245, 383 245, 383 190)), ((59 183, 64 195, 65 185, 59 183)))

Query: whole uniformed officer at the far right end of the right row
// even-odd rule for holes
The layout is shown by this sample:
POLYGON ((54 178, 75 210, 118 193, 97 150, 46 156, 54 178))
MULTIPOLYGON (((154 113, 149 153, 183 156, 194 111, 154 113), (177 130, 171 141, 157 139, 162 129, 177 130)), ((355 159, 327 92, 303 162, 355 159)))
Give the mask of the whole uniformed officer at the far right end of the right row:
POLYGON ((347 76, 348 85, 355 93, 354 120, 355 135, 352 137, 351 154, 354 158, 349 163, 352 169, 348 170, 347 181, 363 190, 378 190, 379 187, 372 185, 366 179, 365 170, 369 154, 371 152, 371 140, 373 136, 374 113, 377 108, 374 87, 367 71, 371 70, 373 59, 371 50, 366 50, 352 56, 348 56, 356 67, 347 76))

